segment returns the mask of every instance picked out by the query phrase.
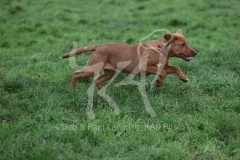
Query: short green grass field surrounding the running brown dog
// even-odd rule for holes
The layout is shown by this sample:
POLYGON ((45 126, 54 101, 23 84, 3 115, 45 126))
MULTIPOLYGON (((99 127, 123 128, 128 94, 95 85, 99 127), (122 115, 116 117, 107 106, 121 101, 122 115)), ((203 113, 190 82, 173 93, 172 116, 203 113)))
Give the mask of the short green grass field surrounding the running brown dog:
MULTIPOLYGON (((235 0, 0 1, 0 159, 240 159, 240 4, 235 0), (145 111, 137 85, 70 88, 74 70, 59 57, 73 48, 139 43, 155 29, 179 28, 198 55, 172 59, 190 82, 148 76, 145 111)), ((165 32, 150 39, 157 39, 165 32)), ((148 39, 149 40, 149 39, 148 39)), ((89 53, 76 57, 85 65, 89 53)), ((140 81, 136 77, 134 80, 140 81)))

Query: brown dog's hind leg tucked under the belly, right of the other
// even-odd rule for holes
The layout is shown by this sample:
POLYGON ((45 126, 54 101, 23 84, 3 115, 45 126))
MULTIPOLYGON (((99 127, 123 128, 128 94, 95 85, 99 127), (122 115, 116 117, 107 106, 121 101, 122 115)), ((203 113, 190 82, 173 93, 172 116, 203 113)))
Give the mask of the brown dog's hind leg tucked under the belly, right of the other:
POLYGON ((94 80, 94 83, 98 87, 98 89, 101 89, 103 87, 103 85, 102 85, 103 82, 111 79, 113 77, 114 73, 115 73, 115 71, 104 69, 103 74, 94 80))

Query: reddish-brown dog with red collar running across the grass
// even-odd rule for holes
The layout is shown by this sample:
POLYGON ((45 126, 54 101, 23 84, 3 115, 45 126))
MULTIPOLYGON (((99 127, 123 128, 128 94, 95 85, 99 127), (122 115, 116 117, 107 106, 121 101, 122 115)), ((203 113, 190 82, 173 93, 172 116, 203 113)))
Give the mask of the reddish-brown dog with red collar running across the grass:
POLYGON ((73 88, 76 88, 78 79, 93 77, 101 70, 103 74, 94 80, 98 88, 102 88, 103 82, 110 80, 116 71, 140 76, 156 74, 159 76, 157 87, 163 84, 168 73, 175 73, 183 82, 187 82, 188 78, 181 69, 169 65, 168 60, 170 57, 178 57, 190 61, 190 57, 197 54, 179 29, 175 34, 165 34, 163 38, 136 45, 109 43, 85 46, 65 54, 62 58, 86 51, 95 52, 90 55, 85 68, 74 73, 71 84, 73 88))

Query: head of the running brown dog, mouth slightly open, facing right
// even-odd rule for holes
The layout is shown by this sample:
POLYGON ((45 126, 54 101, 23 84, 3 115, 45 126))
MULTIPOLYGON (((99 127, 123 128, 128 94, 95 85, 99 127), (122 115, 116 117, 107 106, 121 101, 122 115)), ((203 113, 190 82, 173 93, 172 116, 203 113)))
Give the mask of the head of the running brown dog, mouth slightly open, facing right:
POLYGON ((185 61, 190 61, 191 57, 197 54, 197 52, 189 46, 181 29, 174 34, 165 34, 164 38, 169 42, 168 44, 172 43, 168 53, 169 57, 178 57, 185 61))

